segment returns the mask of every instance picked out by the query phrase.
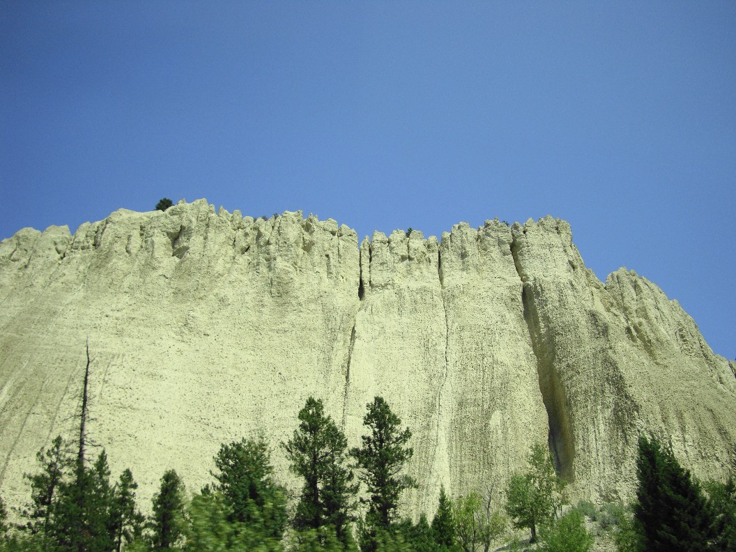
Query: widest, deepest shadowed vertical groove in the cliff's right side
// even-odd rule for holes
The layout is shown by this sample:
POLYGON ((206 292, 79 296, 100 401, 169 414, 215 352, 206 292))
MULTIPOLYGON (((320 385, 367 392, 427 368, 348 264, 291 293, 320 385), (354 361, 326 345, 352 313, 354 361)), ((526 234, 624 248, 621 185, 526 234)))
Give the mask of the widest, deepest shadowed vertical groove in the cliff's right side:
POLYGON ((539 392, 547 410, 549 436, 548 447, 552 453, 555 469, 567 481, 574 481, 575 445, 567 412, 565 389, 559 381, 555 361, 555 349, 548 336, 545 336, 539 321, 537 306, 534 304, 534 289, 525 281, 516 241, 512 241, 511 252, 514 266, 522 282, 521 301, 524 308, 524 321, 531 339, 531 349, 537 358, 537 375, 539 376, 539 392))

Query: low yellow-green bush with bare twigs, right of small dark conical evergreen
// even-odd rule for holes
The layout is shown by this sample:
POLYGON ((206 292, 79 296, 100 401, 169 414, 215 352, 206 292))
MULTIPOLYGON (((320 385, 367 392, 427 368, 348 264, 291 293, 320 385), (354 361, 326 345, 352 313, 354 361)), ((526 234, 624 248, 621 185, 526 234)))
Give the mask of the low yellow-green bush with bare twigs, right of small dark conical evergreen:
POLYGON ((475 552, 482 545, 489 551, 492 542, 498 539, 508 522, 498 510, 491 509, 491 500, 482 500, 477 492, 471 492, 455 501, 454 518, 457 541, 464 552, 475 552))

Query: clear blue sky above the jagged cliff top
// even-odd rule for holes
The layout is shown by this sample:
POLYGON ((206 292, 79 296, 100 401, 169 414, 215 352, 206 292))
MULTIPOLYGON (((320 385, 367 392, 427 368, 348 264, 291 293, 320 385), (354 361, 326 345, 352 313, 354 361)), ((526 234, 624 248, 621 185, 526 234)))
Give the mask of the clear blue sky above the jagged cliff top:
POLYGON ((736 356, 736 2, 0 3, 0 238, 205 197, 566 219, 736 356))

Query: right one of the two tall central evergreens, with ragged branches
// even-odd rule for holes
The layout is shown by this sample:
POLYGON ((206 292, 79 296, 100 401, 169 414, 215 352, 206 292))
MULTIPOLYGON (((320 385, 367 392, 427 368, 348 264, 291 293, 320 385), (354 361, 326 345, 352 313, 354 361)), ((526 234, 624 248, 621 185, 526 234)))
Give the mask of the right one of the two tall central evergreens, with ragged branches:
POLYGON ((367 408, 363 425, 370 432, 361 437, 362 446, 353 448, 350 454, 361 469, 361 481, 368 488, 369 498, 364 500, 368 510, 361 548, 364 548, 364 552, 372 552, 378 542, 377 531, 390 532, 392 529, 401 493, 416 486, 416 483, 401 473, 404 464, 414 454, 414 450, 406 446, 411 431, 408 428, 403 431, 400 429, 400 418, 382 397, 375 397, 367 408))

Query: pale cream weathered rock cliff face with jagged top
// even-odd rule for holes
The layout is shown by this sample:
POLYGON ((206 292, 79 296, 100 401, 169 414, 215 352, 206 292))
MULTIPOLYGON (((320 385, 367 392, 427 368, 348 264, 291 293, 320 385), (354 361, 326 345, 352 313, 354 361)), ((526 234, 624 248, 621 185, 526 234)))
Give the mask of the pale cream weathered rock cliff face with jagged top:
POLYGON ((414 433, 407 512, 439 485, 486 489, 549 442, 578 498, 629 497, 637 436, 670 439, 696 475, 736 445, 736 365, 634 272, 601 283, 569 225, 489 221, 423 238, 332 219, 252 219, 200 199, 118 210, 0 243, 0 492, 74 434, 93 356, 91 436, 147 500, 173 467, 209 481, 220 443, 277 445, 310 394, 358 445, 382 394, 414 433))

